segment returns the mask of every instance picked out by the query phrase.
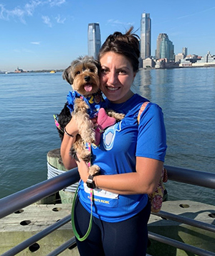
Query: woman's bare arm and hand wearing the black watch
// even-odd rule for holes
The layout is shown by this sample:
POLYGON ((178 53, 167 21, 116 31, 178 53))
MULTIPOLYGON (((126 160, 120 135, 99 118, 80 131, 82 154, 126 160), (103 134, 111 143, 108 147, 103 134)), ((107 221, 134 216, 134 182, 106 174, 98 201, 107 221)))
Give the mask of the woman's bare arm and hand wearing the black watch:
MULTIPOLYGON (((82 161, 77 163, 80 177, 84 182, 88 178, 88 167, 82 161)), ((106 191, 119 194, 153 193, 158 186, 163 169, 163 162, 147 157, 137 157, 136 173, 116 175, 97 175, 95 185, 106 191)))

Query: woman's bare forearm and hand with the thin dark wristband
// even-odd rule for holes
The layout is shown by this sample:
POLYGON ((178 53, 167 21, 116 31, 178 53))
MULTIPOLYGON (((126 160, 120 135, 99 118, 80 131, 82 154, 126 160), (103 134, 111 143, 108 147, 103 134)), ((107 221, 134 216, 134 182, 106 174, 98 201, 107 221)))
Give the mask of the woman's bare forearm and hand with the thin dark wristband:
POLYGON ((72 158, 72 156, 70 155, 70 149, 73 143, 75 142, 76 135, 78 133, 77 125, 75 124, 74 119, 70 120, 65 129, 67 130, 68 134, 72 134, 72 136, 74 136, 70 137, 68 134, 65 133, 60 147, 62 162, 64 163, 65 168, 67 168, 67 170, 70 170, 72 168, 77 167, 75 159, 72 158))

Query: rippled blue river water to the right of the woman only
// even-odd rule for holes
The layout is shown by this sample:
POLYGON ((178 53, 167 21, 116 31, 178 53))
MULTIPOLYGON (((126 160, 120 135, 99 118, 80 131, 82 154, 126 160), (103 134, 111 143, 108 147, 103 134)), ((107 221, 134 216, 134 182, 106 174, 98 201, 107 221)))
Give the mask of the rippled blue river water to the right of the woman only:
MULTIPOLYGON (((135 92, 163 109, 166 165, 215 173, 214 79, 214 68, 142 69, 136 76, 135 92)), ((210 189, 196 193, 195 186, 181 184, 176 194, 176 183, 169 181, 167 187, 174 199, 190 198, 192 193, 193 200, 215 204, 215 191, 210 189)))

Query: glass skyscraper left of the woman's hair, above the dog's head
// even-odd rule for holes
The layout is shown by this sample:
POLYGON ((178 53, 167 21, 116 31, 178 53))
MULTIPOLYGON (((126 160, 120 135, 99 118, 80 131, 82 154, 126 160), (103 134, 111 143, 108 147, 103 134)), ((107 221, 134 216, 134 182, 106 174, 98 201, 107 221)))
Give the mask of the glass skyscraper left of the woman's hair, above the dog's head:
POLYGON ((88 55, 97 59, 101 47, 100 24, 88 24, 88 55))

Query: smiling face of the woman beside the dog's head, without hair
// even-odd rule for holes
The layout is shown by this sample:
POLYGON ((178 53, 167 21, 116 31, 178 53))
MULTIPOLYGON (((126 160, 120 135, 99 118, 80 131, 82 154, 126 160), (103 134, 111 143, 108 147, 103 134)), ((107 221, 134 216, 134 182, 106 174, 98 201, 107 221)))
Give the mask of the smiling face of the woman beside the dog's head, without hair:
POLYGON ((114 103, 123 103, 133 96, 130 86, 135 78, 133 66, 124 55, 106 52, 100 58, 100 89, 114 103))

